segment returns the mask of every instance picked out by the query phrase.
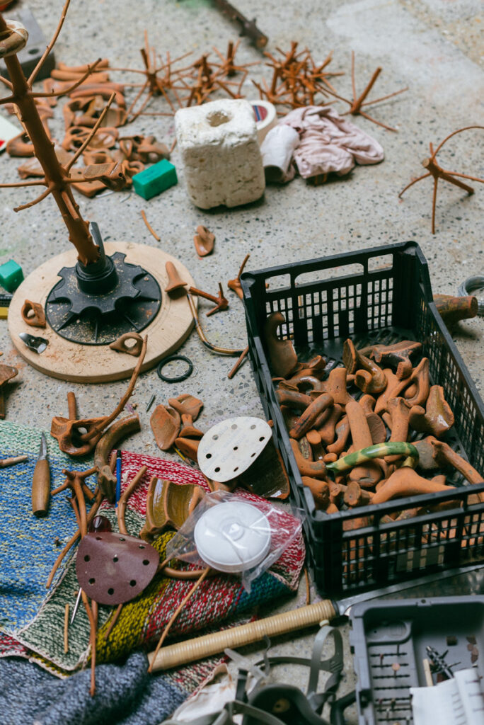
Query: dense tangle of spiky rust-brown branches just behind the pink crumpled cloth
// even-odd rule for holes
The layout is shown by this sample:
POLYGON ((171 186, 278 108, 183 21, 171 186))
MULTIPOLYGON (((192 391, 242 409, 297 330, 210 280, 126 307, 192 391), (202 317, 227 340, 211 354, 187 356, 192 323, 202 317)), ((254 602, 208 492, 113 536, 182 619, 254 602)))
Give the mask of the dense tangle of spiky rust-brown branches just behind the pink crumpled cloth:
POLYGON ((335 92, 328 78, 344 73, 326 70, 332 60, 332 54, 328 54, 325 60, 317 65, 309 49, 305 48, 298 52, 297 48, 296 41, 291 42, 291 49, 287 52, 278 48, 277 51, 283 56, 282 59, 268 52, 264 53, 269 59, 266 65, 272 68, 270 86, 264 79, 262 83, 252 80, 262 99, 280 106, 299 108, 317 105, 320 103, 320 96, 327 98, 328 89, 335 92))

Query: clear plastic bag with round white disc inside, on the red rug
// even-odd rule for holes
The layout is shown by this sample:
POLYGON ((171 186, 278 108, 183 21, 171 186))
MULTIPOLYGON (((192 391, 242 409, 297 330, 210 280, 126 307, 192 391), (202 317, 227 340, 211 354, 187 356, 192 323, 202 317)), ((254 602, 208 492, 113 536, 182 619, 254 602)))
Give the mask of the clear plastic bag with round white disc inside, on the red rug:
POLYGON ((206 494, 167 545, 167 558, 240 573, 243 586, 260 576, 301 532, 302 514, 258 497, 206 494))

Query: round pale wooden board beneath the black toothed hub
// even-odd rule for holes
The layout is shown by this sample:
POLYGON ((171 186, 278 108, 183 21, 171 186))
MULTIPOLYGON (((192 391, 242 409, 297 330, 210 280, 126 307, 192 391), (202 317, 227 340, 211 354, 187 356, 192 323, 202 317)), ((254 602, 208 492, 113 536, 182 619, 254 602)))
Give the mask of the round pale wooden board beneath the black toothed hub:
MULTIPOLYGON (((131 242, 106 242, 107 254, 124 252, 126 262, 141 265, 156 278, 162 289, 162 305, 154 320, 141 331, 148 335, 148 347, 142 370, 149 370, 163 357, 170 355, 185 341, 193 327, 193 318, 184 295, 172 299, 164 288, 168 283, 166 262, 172 262, 188 286, 195 286, 185 266, 171 254, 157 247, 131 242)), ((19 354, 36 370, 53 378, 78 383, 101 383, 129 378, 138 361, 133 355, 110 349, 106 345, 83 345, 64 339, 47 323, 46 328, 33 328, 22 320, 20 311, 25 299, 45 305, 47 296, 57 281, 62 267, 72 267, 77 262, 77 252, 70 249, 45 262, 31 273, 14 294, 9 307, 9 333, 19 354), (45 352, 39 355, 28 348, 19 334, 41 336, 49 340, 45 352)))

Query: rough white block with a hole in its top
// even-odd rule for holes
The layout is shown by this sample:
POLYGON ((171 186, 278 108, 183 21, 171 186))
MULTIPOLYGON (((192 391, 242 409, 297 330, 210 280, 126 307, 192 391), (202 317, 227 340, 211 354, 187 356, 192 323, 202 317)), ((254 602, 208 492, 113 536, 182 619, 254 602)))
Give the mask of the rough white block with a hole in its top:
POLYGON ((193 204, 238 207, 264 194, 262 157, 249 101, 227 99, 175 114, 178 148, 193 204))

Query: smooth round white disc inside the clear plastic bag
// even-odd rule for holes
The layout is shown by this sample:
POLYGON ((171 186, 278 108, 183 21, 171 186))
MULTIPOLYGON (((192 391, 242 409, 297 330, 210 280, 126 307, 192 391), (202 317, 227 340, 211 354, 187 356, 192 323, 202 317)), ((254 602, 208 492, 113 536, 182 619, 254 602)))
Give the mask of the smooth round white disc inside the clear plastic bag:
POLYGON ((206 510, 193 532, 201 559, 217 571, 235 573, 257 566, 270 550, 270 524, 262 511, 241 501, 206 510))

